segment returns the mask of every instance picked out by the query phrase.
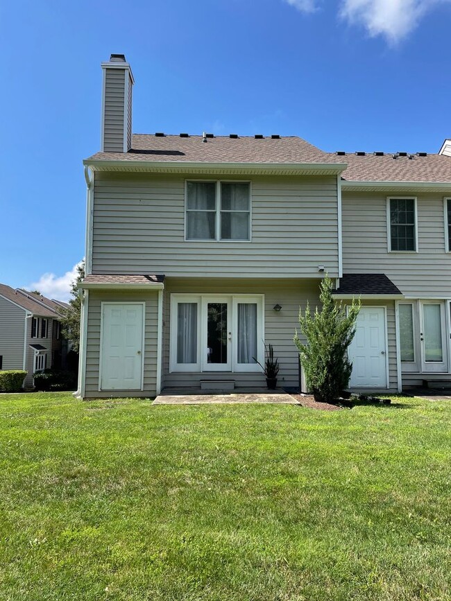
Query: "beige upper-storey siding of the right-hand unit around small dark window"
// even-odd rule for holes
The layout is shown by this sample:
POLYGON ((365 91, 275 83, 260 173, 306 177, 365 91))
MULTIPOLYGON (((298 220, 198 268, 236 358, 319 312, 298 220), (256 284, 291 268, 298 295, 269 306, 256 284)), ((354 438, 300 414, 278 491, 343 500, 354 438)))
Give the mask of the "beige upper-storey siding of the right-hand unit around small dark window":
MULTIPOLYGON (((411 253, 388 251, 387 196, 343 192, 343 272, 382 272, 407 296, 451 298, 443 196, 418 194, 418 252, 411 253)), ((402 193, 392 196, 401 198, 402 193)))

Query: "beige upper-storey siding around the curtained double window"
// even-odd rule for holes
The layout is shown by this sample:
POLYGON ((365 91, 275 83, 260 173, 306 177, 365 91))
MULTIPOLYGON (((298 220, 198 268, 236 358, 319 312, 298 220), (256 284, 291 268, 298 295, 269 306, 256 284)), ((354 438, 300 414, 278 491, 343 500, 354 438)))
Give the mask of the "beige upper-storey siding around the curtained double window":
POLYGON ((92 271, 337 277, 337 178, 255 177, 251 191, 252 241, 185 241, 184 177, 96 173, 92 271))

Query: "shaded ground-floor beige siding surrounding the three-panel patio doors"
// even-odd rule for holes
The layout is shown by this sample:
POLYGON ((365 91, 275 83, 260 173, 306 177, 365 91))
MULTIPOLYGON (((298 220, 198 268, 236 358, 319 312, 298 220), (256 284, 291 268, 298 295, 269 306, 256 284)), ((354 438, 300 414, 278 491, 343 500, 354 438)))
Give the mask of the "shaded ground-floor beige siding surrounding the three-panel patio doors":
POLYGON ((298 352, 293 343, 293 336, 298 326, 299 308, 305 309, 307 300, 314 307, 319 305, 319 282, 315 280, 279 280, 253 279, 176 279, 168 278, 164 290, 164 338, 163 338, 163 372, 165 387, 197 387, 201 380, 231 380, 235 386, 266 386, 262 373, 169 373, 170 345, 170 307, 171 294, 249 294, 264 295, 264 340, 274 346, 275 356, 280 362, 278 385, 298 386, 299 367, 298 352), (278 313, 273 306, 280 304, 278 313))

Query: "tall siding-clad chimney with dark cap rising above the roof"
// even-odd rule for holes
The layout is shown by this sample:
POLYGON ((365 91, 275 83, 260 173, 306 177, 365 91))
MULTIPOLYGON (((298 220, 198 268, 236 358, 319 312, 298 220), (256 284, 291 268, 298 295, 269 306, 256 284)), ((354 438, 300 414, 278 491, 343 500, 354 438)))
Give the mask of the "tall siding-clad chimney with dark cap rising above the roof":
POLYGON ((128 153, 132 147, 132 87, 135 83, 124 54, 112 54, 102 63, 102 122, 100 149, 103 153, 128 153))

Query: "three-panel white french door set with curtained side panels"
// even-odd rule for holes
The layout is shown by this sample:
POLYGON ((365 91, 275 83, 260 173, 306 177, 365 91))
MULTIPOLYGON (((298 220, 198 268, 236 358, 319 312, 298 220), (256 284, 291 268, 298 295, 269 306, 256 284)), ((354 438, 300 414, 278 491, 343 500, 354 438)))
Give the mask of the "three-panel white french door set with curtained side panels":
POLYGON ((171 372, 259 372, 263 295, 171 295, 171 372))

